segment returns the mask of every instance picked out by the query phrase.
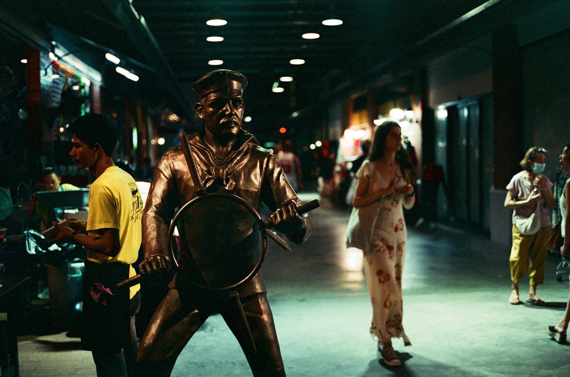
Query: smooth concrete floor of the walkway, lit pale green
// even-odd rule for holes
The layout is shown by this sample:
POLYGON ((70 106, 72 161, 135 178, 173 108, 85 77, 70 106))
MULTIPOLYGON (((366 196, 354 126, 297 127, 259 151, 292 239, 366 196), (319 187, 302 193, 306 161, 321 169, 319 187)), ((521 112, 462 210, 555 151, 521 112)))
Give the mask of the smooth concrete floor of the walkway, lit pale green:
MULTIPOLYGON (((303 201, 311 197, 303 197, 303 201)), ((569 376, 570 344, 546 334, 568 297, 549 255, 538 295, 545 307, 510 305, 509 250, 451 229, 409 229, 404 326, 413 346, 394 339, 402 367, 378 361, 362 256, 344 247, 349 212, 324 204, 314 231, 292 254, 270 243, 263 276, 290 377, 569 376)), ((526 298, 521 283, 521 298, 526 298)), ((95 376, 90 353, 65 333, 19 338, 21 375, 95 376)), ((172 376, 249 376, 230 330, 212 316, 178 358, 172 376)))

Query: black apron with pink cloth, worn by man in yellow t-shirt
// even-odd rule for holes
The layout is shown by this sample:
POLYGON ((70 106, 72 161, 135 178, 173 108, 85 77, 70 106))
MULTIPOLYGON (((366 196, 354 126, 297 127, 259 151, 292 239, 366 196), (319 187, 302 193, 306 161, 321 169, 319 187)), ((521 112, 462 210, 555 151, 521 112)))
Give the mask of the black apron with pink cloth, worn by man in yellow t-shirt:
POLYGON ((129 288, 115 288, 119 281, 128 277, 129 264, 85 261, 81 326, 81 343, 84 350, 119 353, 130 344, 129 288), (104 297, 105 306, 93 300, 93 283, 100 283, 111 289, 113 295, 104 297))

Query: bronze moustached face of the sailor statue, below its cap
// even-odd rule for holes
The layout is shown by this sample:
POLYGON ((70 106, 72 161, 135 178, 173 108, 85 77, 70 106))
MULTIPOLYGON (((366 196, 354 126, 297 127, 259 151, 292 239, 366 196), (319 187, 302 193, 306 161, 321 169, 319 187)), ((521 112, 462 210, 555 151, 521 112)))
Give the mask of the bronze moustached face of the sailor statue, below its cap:
POLYGON ((235 90, 210 93, 194 109, 214 136, 235 136, 242 126, 243 100, 235 90))

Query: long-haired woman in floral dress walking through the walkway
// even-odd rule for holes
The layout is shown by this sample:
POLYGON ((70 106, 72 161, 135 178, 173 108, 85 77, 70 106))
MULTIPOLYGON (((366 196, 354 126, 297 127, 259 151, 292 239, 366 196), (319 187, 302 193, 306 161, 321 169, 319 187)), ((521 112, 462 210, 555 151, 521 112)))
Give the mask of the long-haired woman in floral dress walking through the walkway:
POLYGON ((350 235, 347 240, 348 246, 364 245, 364 273, 373 308, 370 334, 378 341, 382 359, 389 366, 401 365, 392 338, 403 337, 404 345, 412 344, 402 326, 401 279, 406 254, 402 207, 409 209, 414 204, 414 187, 410 183, 415 179, 413 166, 401 148, 398 123, 378 126, 369 158, 356 173, 359 181, 353 206, 356 213, 368 212, 361 216, 359 225, 359 238, 365 241, 351 242, 350 235), (373 216, 369 215, 371 212, 373 216))

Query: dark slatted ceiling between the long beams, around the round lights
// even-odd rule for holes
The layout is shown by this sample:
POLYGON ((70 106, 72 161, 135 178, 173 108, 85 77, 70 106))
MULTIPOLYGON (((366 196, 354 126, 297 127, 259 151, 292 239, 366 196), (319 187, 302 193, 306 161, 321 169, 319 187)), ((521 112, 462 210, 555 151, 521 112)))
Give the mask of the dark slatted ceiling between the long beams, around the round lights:
POLYGON ((367 71, 439 27, 484 3, 402 0, 134 0, 178 80, 189 87, 215 68, 241 72, 249 79, 247 96, 254 113, 288 115, 314 103, 335 86, 367 71), (225 26, 207 26, 212 18, 225 26), (340 26, 324 26, 328 18, 340 26), (303 39, 316 32, 318 39, 303 39), (207 42, 222 36, 222 42, 207 42), (212 59, 223 60, 213 67, 212 59), (303 59, 303 65, 291 65, 303 59), (295 76, 295 90, 280 76, 295 76), (252 98, 253 97, 253 98, 252 98), (292 100, 294 97, 294 101, 292 100), (252 102, 253 100, 253 102, 252 102))

